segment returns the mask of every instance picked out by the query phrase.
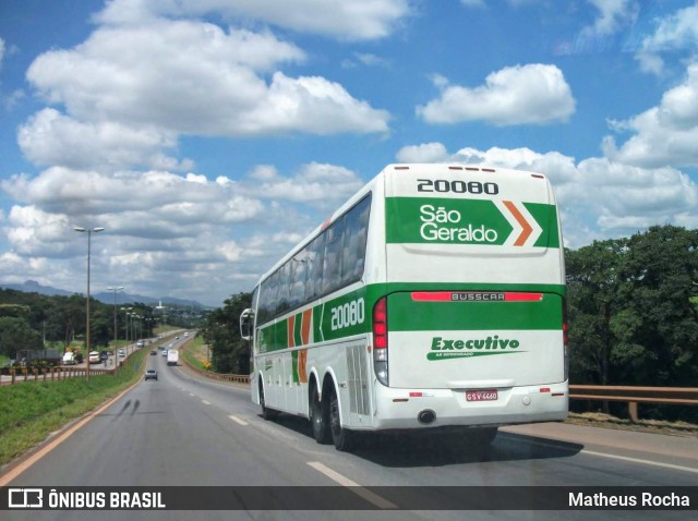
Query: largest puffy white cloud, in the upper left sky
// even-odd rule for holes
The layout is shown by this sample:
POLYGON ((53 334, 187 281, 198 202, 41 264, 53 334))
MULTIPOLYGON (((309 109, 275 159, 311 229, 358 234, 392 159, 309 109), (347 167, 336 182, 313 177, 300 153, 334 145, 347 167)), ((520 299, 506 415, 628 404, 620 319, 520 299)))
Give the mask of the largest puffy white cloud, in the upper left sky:
POLYGON ((387 131, 386 111, 338 83, 276 71, 304 59, 268 32, 161 19, 101 26, 75 48, 32 63, 29 83, 65 114, 38 112, 20 143, 37 165, 176 168, 160 150, 174 148, 181 134, 387 131))

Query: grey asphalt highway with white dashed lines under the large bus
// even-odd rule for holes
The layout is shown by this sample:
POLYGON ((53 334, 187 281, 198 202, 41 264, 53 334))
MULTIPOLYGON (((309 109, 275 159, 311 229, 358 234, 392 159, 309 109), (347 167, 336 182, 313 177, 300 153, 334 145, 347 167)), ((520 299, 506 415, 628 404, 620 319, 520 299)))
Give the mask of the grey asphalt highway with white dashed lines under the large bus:
MULTIPOLYGON (((38 461, 19 468, 19 473, 15 469, 9 485, 302 486, 305 492, 339 486, 362 496, 371 510, 321 511, 309 502, 308 509, 288 511, 10 511, 2 512, 3 519, 557 520, 559 511, 501 510, 494 504, 491 510, 470 512, 400 506, 412 505, 419 494, 435 493, 426 487, 444 487, 436 493, 447 504, 454 499, 448 495, 459 490, 447 487, 663 486, 681 493, 698 486, 695 437, 567 424, 504 428, 486 451, 468 450, 447 437, 374 436, 352 453, 338 452, 332 445, 317 445, 302 419, 264 421, 243 386, 202 380, 183 367, 168 367, 159 352, 145 360, 145 368, 158 371, 157 381, 140 381, 38 461), (396 488, 370 488, 374 486, 396 488)), ((658 513, 684 520, 694 519, 688 514, 695 510, 579 509, 563 517, 654 520, 658 513)))

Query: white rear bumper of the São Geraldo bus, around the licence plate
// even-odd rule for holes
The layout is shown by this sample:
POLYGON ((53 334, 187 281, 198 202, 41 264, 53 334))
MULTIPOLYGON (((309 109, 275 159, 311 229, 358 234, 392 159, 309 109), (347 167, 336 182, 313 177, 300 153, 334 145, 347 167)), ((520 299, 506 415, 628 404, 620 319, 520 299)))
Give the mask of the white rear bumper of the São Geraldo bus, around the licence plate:
POLYGON ((496 389, 496 399, 486 393, 494 389, 473 396, 466 389, 377 387, 376 429, 555 422, 567 417, 569 403, 567 383, 496 389))

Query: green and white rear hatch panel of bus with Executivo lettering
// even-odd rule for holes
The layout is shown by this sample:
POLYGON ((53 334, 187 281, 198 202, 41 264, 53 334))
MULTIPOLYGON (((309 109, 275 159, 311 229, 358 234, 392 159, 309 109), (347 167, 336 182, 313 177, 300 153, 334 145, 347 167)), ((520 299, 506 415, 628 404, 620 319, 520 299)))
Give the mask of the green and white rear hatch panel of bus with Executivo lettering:
POLYGON ((564 380, 563 298, 519 291, 388 295, 389 386, 564 380))

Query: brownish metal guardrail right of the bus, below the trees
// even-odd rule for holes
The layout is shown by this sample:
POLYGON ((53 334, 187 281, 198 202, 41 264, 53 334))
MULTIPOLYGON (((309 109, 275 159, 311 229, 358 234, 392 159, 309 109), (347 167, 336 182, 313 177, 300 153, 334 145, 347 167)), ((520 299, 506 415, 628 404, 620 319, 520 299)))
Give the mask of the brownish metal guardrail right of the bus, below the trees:
POLYGON ((665 405, 698 405, 698 387, 635 387, 570 385, 573 400, 622 401, 628 404, 628 414, 638 422, 638 403, 665 405))

